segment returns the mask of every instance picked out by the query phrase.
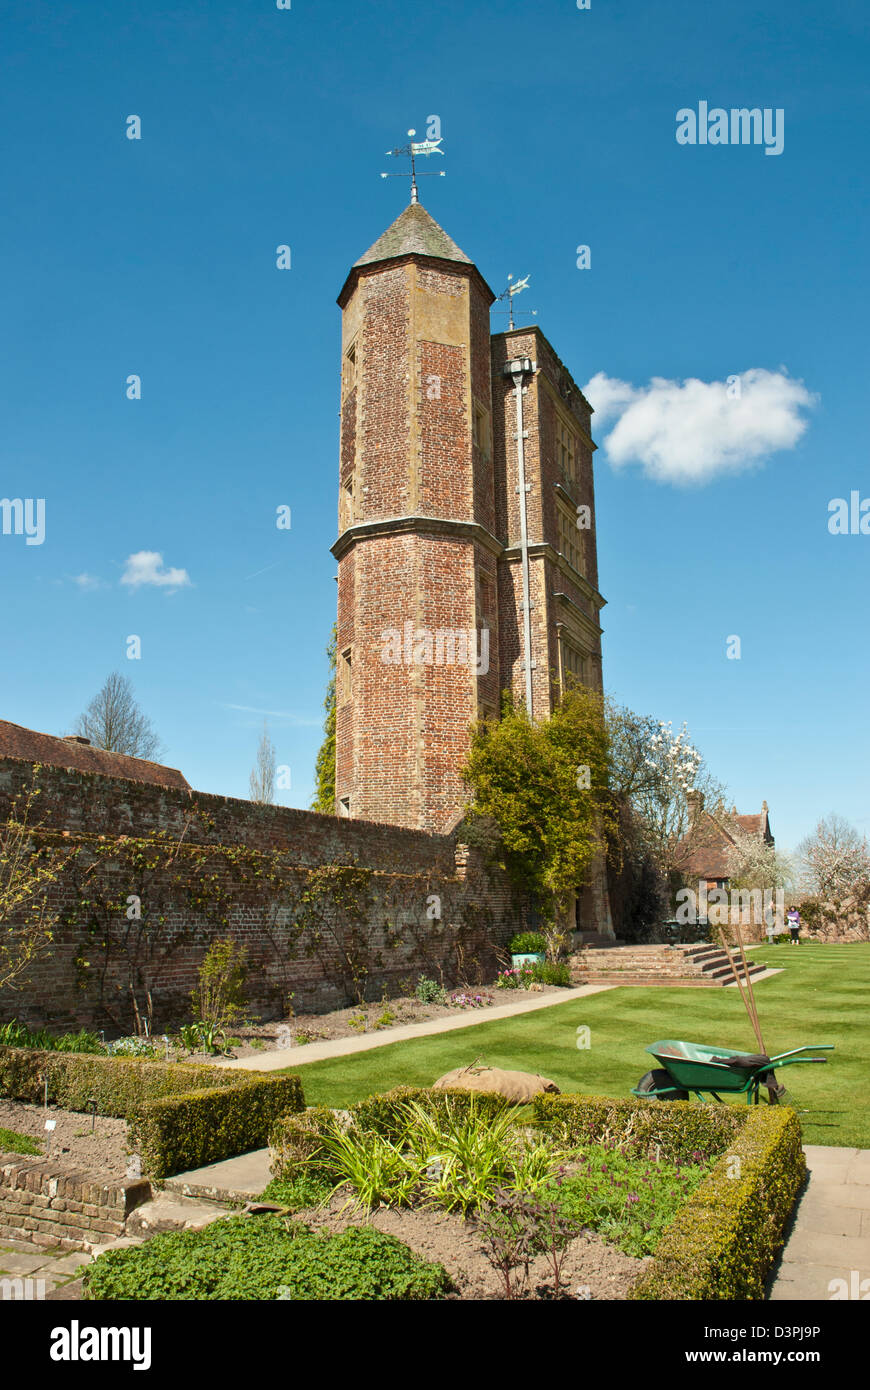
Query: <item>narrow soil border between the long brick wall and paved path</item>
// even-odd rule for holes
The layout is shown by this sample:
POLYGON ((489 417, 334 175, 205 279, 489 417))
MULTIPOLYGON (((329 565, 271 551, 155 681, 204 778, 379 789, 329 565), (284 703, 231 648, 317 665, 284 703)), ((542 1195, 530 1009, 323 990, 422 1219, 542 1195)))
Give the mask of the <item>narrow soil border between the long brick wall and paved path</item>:
MULTIPOLYGON (((524 999, 539 999, 542 994, 564 994, 561 986, 539 984, 532 990, 496 990, 491 986, 457 986, 448 991, 448 998, 456 995, 478 997, 482 1002, 473 1004, 421 1004, 414 995, 386 999, 379 1004, 352 1005, 347 1009, 334 1009, 331 1013, 288 1015, 270 1023, 238 1024, 229 1029, 233 1040, 232 1056, 253 1056, 256 1052, 274 1052, 279 1047, 303 1047, 306 1042, 320 1042, 325 1038, 361 1037, 366 1033, 388 1033, 406 1023, 424 1023, 427 1019, 445 1019, 457 1013, 481 1015, 499 1004, 521 1004, 524 999)), ((206 1054, 190 1054, 186 1061, 211 1061, 206 1054)))

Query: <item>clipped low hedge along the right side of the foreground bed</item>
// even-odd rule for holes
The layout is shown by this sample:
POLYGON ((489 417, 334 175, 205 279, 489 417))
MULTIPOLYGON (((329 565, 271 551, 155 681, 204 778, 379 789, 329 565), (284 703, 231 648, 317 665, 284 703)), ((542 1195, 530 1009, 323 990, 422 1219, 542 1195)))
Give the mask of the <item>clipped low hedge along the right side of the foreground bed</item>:
POLYGON ((630 1298, 764 1297, 806 1159, 791 1108, 753 1105, 742 1113, 739 1134, 667 1227, 630 1298))

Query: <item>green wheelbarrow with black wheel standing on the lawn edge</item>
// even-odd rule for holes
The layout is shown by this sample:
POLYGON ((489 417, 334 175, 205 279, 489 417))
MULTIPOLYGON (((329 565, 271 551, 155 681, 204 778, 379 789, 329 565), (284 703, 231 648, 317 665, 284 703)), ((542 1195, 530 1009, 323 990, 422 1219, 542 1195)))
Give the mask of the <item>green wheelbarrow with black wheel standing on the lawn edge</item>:
POLYGON ((732 1047, 707 1047, 705 1042, 675 1042, 666 1038, 650 1042, 659 1066, 642 1076, 631 1088, 641 1099, 688 1101, 692 1095, 745 1095, 748 1105, 759 1104, 759 1090, 766 1087, 771 1105, 788 1104, 787 1091, 780 1086, 774 1068, 798 1062, 827 1062, 827 1056, 803 1056, 805 1052, 831 1052, 834 1042, 812 1042, 807 1047, 766 1056, 763 1052, 738 1052, 732 1047))

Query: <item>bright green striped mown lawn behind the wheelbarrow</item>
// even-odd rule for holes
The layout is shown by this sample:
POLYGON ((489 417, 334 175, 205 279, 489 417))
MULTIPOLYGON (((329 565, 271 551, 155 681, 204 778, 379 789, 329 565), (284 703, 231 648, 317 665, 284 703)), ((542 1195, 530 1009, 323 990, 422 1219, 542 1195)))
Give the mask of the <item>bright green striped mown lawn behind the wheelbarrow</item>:
MULTIPOLYGON (((755 986, 769 1054, 835 1044, 826 1066, 780 1073, 798 1102, 805 1143, 870 1148, 870 944, 763 945, 752 948, 752 959, 784 967, 755 986)), ((623 987, 288 1070, 302 1076, 310 1105, 346 1106, 402 1083, 431 1086, 478 1056, 489 1066, 541 1072, 564 1091, 628 1095, 655 1065, 643 1048, 668 1037, 757 1051, 737 990, 623 987), (580 1024, 591 1029, 589 1049, 577 1048, 580 1024)))

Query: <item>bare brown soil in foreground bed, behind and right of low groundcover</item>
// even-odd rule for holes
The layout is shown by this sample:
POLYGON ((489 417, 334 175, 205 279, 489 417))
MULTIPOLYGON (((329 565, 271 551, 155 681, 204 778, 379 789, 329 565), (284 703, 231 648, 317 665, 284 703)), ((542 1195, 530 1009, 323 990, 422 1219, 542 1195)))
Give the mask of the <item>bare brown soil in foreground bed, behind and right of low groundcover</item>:
MULTIPOLYGON (((379 1207, 367 1216, 359 1208, 342 1209, 345 1201, 346 1198, 336 1194, 329 1207, 297 1212, 296 1219, 317 1230, 329 1232, 368 1222, 377 1230, 403 1240, 422 1259, 434 1259, 443 1265, 456 1284, 454 1298, 506 1297, 504 1280, 486 1259, 473 1222, 457 1213, 427 1208, 379 1207)), ((648 1264, 649 1258, 637 1259, 634 1255, 625 1255, 616 1245, 606 1244, 595 1232, 586 1230, 567 1247, 560 1279, 568 1297, 584 1301, 621 1300, 648 1264)), ((514 1270, 513 1280, 521 1273, 514 1270)), ((555 1295, 553 1270, 545 1255, 531 1261, 528 1276, 528 1284, 521 1294, 524 1298, 555 1295)))

